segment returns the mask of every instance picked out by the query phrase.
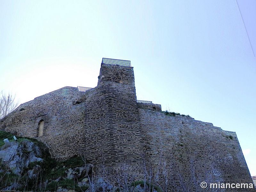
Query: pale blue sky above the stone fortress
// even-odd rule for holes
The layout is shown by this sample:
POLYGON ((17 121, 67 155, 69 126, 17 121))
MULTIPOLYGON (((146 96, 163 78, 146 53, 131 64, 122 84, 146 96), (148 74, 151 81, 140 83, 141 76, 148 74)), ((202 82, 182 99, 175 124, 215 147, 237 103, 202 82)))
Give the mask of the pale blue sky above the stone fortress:
POLYGON ((256 1, 0 0, 0 91, 97 86, 130 60, 138 100, 236 132, 256 175, 256 1))

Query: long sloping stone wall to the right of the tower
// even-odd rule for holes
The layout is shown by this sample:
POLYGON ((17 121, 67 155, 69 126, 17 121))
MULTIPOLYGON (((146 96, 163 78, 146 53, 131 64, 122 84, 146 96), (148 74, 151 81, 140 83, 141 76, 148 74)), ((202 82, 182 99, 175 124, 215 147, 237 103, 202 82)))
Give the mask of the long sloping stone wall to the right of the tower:
POLYGON ((139 114, 146 162, 159 170, 162 160, 173 183, 181 182, 179 174, 184 173, 188 177, 183 179, 191 180, 192 171, 200 181, 198 186, 205 178, 216 183, 252 183, 235 132, 188 116, 166 116, 145 109, 139 109, 139 114))

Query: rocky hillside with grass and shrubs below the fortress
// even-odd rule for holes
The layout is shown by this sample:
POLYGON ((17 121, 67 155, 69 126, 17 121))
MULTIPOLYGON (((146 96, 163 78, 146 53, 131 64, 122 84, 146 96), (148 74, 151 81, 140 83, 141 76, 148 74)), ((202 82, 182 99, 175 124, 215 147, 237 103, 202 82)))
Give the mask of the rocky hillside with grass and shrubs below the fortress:
MULTIPOLYGON (((51 158, 49 148, 35 139, 17 137, 0 131, 0 189, 3 191, 144 191, 144 181, 136 177, 125 183, 125 173, 99 177, 93 172, 93 165, 81 156, 65 161, 51 158), (10 142, 3 142, 8 138, 10 142), (112 183, 110 180, 112 180, 112 183), (115 182, 117 181, 117 182, 115 182), (115 183, 116 185, 114 185, 115 183)), ((127 176, 127 175, 126 175, 127 176)), ((145 191, 162 191, 145 181, 145 191)))

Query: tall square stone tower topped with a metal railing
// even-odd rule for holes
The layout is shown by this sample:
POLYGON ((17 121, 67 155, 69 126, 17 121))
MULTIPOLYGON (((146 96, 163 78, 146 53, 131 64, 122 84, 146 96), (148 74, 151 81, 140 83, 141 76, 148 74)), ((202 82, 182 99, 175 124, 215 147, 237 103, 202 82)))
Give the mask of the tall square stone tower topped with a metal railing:
POLYGON ((103 59, 98 78, 85 106, 86 156, 93 162, 103 154, 107 167, 124 159, 139 163, 143 144, 133 68, 129 61, 103 59))

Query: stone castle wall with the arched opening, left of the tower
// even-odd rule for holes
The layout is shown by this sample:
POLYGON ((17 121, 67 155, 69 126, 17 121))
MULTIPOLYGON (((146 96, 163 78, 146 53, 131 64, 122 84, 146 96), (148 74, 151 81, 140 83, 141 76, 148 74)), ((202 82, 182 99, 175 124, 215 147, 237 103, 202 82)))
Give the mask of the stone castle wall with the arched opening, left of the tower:
POLYGON ((85 96, 86 93, 78 92, 76 87, 63 87, 21 104, 2 120, 0 127, 36 138, 51 149, 52 157, 67 159, 76 155, 77 146, 83 143, 85 96), (40 120, 44 120, 44 130, 43 135, 37 137, 40 120))

